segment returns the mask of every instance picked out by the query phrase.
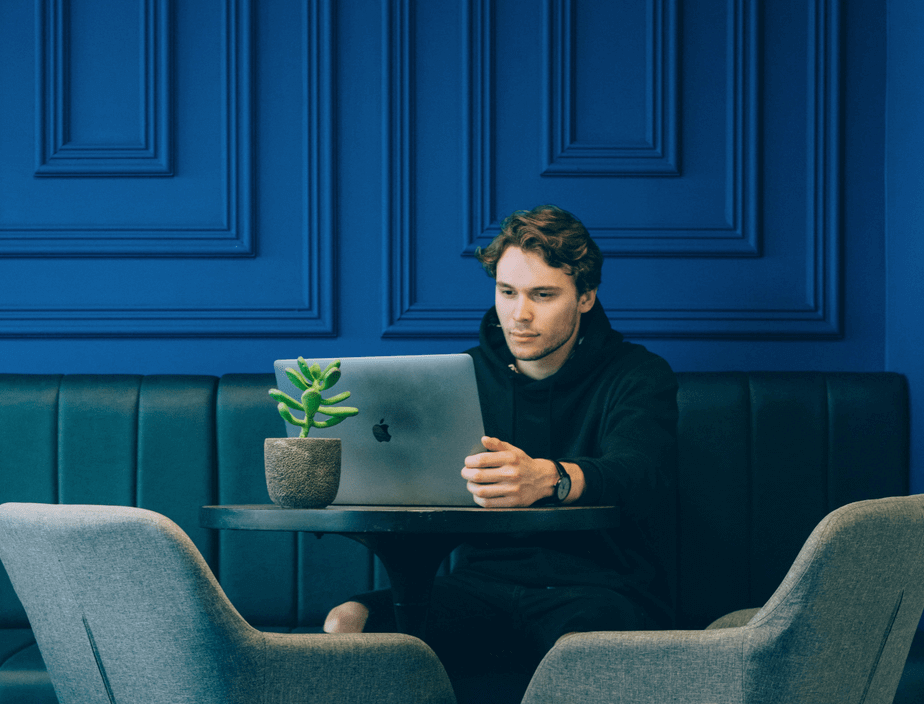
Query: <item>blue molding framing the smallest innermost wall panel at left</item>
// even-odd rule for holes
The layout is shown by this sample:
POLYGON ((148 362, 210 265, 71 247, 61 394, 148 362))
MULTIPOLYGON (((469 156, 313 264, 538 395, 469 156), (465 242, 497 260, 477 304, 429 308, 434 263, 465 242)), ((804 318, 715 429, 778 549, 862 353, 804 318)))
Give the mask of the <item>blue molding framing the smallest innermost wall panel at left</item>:
MULTIPOLYGON (((173 77, 169 0, 138 2, 140 91, 136 141, 80 143, 71 135, 71 25, 73 4, 40 0, 37 8, 37 176, 171 176, 173 77)), ((122 57, 126 62, 130 57, 122 57)), ((109 86, 110 90, 116 87, 109 86)), ((98 96, 94 96, 98 99, 98 96)))

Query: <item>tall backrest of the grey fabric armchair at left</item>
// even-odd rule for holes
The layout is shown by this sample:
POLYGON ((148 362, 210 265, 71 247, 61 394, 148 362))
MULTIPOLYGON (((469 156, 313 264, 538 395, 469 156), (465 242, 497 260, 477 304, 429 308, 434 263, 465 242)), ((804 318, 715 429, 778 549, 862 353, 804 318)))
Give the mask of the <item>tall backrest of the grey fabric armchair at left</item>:
POLYGON ((120 506, 7 503, 0 558, 62 704, 259 698, 242 691, 241 678, 263 666, 254 657, 262 634, 169 519, 120 506))

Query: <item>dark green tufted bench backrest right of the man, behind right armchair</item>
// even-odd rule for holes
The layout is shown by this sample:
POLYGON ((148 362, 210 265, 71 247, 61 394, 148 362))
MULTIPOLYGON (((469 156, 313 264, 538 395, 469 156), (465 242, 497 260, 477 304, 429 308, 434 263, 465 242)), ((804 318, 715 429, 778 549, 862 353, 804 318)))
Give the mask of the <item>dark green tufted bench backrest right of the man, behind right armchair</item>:
POLYGON ((678 377, 679 627, 762 605, 835 508, 908 493, 903 376, 678 377))

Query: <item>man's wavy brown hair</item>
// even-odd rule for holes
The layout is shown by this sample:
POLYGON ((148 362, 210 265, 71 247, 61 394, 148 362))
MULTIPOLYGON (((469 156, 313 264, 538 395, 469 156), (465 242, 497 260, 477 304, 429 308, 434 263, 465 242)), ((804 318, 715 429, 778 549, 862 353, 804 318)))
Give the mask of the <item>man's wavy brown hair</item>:
POLYGON ((475 256, 494 279, 497 262, 508 247, 542 255, 545 263, 574 277, 578 296, 600 286, 603 255, 587 228, 574 215, 554 205, 517 210, 501 223, 501 233, 475 256))

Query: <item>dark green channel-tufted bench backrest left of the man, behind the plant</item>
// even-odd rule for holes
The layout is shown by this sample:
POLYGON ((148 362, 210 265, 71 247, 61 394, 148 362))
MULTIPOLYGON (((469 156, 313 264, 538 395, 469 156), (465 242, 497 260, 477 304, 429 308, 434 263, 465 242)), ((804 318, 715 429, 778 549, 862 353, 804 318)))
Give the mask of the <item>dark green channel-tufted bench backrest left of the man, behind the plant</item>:
MULTIPOLYGON (((263 438, 285 435, 266 393, 274 384, 271 374, 0 375, 0 502, 163 513, 193 539, 245 618, 315 627, 337 598, 382 584, 365 548, 338 536, 199 526, 202 505, 269 502, 263 438)), ((0 628, 26 627, 0 569, 0 628)))

